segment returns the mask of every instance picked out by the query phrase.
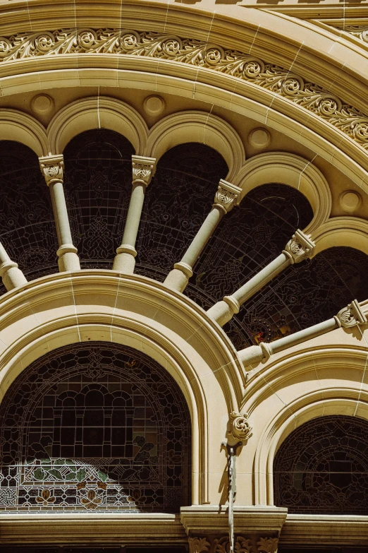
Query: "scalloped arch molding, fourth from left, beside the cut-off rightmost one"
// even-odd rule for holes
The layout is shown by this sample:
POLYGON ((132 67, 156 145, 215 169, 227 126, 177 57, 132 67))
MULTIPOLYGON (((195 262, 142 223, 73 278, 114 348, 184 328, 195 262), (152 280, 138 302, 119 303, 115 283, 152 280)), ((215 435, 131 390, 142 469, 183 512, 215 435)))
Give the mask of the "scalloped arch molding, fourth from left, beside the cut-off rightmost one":
POLYGON ((283 152, 262 153, 245 162, 234 184, 243 189, 242 198, 262 184, 278 182, 300 191, 312 206, 314 217, 305 232, 316 232, 331 212, 329 184, 312 162, 283 152))

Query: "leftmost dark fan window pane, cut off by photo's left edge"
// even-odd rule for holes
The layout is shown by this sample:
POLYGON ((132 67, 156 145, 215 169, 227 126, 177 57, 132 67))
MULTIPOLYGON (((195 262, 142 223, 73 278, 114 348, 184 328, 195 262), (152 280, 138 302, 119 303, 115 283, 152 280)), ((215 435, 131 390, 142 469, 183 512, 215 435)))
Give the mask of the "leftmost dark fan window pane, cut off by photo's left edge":
POLYGON ((59 271, 49 189, 37 155, 19 142, 1 141, 0 229, 2 244, 27 280, 59 271))

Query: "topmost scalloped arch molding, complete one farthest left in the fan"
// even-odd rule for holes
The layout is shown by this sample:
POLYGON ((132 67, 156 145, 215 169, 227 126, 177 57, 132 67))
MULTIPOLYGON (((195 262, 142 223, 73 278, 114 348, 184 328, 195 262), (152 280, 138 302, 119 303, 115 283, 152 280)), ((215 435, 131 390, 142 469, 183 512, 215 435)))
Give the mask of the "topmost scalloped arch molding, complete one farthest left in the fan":
POLYGON ((120 100, 95 96, 76 100, 61 109, 47 128, 51 153, 63 153, 74 136, 91 129, 116 131, 132 143, 137 155, 145 150, 148 129, 135 109, 120 100))

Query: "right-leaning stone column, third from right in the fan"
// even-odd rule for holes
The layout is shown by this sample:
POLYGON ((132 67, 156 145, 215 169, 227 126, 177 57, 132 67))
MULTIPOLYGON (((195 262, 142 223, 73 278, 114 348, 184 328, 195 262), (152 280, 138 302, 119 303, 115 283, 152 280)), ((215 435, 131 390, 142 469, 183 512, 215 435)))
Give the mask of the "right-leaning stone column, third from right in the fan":
POLYGON ((202 254, 204 246, 206 246, 217 225, 219 225, 223 215, 231 211, 233 206, 239 202, 240 193, 241 189, 238 186, 221 179, 211 211, 192 239, 192 243, 181 261, 175 263, 173 270, 168 273, 164 285, 171 288, 171 290, 178 290, 178 292, 185 290, 193 274, 193 266, 202 254))

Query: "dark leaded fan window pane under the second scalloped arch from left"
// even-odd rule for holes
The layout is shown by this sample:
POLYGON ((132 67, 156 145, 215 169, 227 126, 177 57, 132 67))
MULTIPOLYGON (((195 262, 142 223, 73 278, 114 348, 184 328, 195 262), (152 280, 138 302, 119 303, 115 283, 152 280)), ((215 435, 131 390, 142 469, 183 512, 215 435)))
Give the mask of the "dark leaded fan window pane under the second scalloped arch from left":
POLYGON ((130 142, 114 131, 79 134, 64 151, 64 189, 82 268, 111 269, 132 190, 130 142))

